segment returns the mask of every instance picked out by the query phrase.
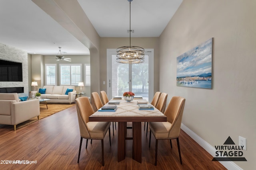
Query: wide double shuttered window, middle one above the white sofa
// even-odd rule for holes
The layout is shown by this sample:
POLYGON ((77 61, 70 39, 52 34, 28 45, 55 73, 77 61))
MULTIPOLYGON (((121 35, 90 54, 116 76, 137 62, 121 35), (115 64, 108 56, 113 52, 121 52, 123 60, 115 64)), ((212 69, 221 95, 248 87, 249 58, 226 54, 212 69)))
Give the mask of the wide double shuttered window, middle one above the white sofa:
POLYGON ((82 64, 60 64, 60 85, 75 86, 81 82, 82 64))

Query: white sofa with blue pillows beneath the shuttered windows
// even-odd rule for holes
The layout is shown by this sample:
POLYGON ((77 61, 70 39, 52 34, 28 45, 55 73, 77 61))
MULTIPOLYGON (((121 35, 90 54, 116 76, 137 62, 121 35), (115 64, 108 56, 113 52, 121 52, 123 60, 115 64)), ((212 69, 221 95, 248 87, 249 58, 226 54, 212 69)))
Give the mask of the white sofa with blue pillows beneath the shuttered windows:
MULTIPOLYGON (((41 98, 50 99, 47 103, 73 103, 76 99, 76 90, 75 86, 44 86, 46 88, 45 94, 41 94, 41 98), (67 89, 73 89, 73 92, 68 92, 68 95, 65 95, 67 89)), ((39 89, 38 89, 39 90, 39 89)), ((31 92, 31 96, 38 91, 31 92)))

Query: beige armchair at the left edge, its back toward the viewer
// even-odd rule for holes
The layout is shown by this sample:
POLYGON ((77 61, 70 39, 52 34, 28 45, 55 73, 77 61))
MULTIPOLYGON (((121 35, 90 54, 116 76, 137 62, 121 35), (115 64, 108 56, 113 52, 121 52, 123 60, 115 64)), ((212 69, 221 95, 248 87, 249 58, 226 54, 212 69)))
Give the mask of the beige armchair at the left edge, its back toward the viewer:
POLYGON ((0 93, 0 124, 16 125, 40 115, 39 100, 20 102, 17 93, 0 93))

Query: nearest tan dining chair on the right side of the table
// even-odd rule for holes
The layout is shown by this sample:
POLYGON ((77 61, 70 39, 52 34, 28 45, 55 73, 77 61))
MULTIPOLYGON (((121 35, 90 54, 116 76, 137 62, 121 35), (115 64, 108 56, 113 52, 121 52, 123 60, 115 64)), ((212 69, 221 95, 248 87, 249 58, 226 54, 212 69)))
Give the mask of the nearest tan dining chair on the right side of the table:
POLYGON ((156 157, 155 165, 157 163, 157 147, 159 139, 170 139, 170 145, 172 148, 172 139, 176 139, 178 145, 178 152, 180 156, 180 164, 182 164, 181 154, 180 154, 180 126, 182 121, 182 115, 185 106, 185 98, 174 96, 172 97, 164 115, 167 117, 167 122, 150 122, 150 135, 149 135, 149 147, 151 141, 151 133, 153 133, 156 138, 156 157))

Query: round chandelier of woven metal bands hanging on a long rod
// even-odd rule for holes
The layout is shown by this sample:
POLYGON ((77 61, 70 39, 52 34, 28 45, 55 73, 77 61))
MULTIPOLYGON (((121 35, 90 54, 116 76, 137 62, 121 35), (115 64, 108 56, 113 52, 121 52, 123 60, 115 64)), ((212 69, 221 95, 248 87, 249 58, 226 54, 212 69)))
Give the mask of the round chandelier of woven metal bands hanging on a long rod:
POLYGON ((124 64, 138 64, 144 62, 144 49, 142 47, 131 46, 131 2, 130 2, 130 46, 116 49, 116 62, 124 64))

